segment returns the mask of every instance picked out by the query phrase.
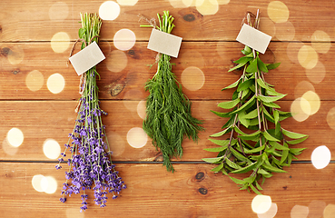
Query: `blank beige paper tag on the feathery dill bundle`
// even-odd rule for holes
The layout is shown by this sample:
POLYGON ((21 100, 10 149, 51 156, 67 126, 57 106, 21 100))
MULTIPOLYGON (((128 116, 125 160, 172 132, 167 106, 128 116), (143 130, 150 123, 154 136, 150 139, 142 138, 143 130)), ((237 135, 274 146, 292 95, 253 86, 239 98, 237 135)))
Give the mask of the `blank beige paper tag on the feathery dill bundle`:
POLYGON ((150 35, 149 38, 148 49, 162 54, 168 54, 172 57, 178 57, 181 45, 182 37, 153 29, 152 35, 150 35))

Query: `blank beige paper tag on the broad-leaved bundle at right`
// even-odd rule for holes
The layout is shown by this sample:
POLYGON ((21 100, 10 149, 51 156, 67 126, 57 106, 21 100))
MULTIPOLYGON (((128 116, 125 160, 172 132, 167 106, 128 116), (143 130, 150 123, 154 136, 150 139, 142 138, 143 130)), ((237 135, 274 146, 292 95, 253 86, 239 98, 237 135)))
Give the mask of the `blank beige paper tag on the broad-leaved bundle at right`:
POLYGON ((271 35, 266 35, 261 31, 251 27, 250 25, 244 24, 241 27, 241 31, 236 38, 241 44, 247 45, 261 54, 264 54, 266 48, 270 44, 271 35))

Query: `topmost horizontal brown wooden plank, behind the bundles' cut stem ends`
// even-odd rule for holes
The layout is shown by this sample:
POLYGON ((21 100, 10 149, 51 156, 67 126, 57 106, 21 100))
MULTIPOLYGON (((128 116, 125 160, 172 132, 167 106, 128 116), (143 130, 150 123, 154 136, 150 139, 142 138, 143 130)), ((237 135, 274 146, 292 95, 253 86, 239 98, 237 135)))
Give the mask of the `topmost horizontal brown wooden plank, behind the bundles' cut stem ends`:
MULTIPOLYGON (((0 40, 50 41, 57 32, 65 32, 72 40, 75 40, 78 37, 77 29, 80 27, 78 24, 79 14, 84 12, 97 13, 100 5, 103 4, 103 1, 99 0, 83 1, 81 4, 64 0, 66 7, 61 7, 61 9, 65 8, 64 10, 67 10, 68 14, 51 19, 50 8, 55 2, 48 0, 41 4, 37 0, 2 1, 0 5, 2 8, 0 40)), ((101 36, 103 39, 113 40, 113 35, 118 30, 129 28, 133 30, 138 40, 148 40, 150 33, 140 28, 138 15, 156 18, 157 13, 162 14, 164 10, 168 10, 175 17, 175 25, 177 26, 173 30, 173 34, 180 35, 186 41, 234 41, 241 28, 241 20, 245 13, 247 11, 256 13, 256 10, 260 9, 261 16, 268 18, 267 9, 270 2, 270 0, 231 1, 228 5, 218 5, 218 11, 215 15, 202 15, 195 6, 178 8, 178 5, 182 4, 182 1, 179 0, 160 0, 155 3, 149 0, 140 0, 133 6, 121 5, 121 14, 114 21, 103 23, 101 36), (177 5, 177 8, 172 5, 177 5)), ((288 21, 294 28, 293 39, 295 41, 310 41, 311 35, 316 30, 325 31, 330 35, 331 41, 334 41, 333 26, 335 21, 332 19, 332 14, 335 5, 332 1, 323 1, 322 4, 317 0, 282 2, 290 12, 288 21)), ((274 24, 272 23, 272 25, 274 24)), ((274 40, 278 39, 274 38, 274 40)))

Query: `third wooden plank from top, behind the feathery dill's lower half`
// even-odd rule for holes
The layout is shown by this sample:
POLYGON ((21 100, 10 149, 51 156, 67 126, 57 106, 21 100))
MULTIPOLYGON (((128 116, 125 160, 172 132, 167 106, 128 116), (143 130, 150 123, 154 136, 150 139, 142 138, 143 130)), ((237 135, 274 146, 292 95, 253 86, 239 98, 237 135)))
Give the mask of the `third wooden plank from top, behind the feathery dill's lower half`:
MULTIPOLYGON (((182 147, 184 154, 182 161, 201 161, 205 157, 214 157, 215 153, 205 152, 202 149, 215 147, 208 140, 211 134, 221 131, 226 118, 220 118, 212 114, 210 110, 223 112, 217 107, 220 101, 194 101, 192 114, 204 121, 205 132, 199 134, 200 140, 194 143, 187 138, 184 139, 182 147)), ((67 101, 42 101, 42 102, 5 102, 0 104, 0 142, 3 150, 0 150, 2 160, 50 160, 44 155, 43 144, 47 139, 56 140, 62 147, 68 141, 67 135, 72 133, 76 114, 74 107, 76 102, 67 101), (6 134, 12 128, 19 128, 25 135, 24 143, 18 148, 12 148, 6 144, 6 134), (8 150, 6 150, 8 149, 8 150)), ((114 152, 115 161, 162 161, 162 154, 155 150, 148 138, 142 148, 133 148, 127 141, 127 134, 133 127, 142 127, 143 119, 139 116, 137 106, 139 101, 103 101, 101 106, 108 115, 103 117, 103 124, 111 149, 114 152)), ((291 101, 279 103, 283 111, 289 111, 291 101)), ((322 101, 321 109, 317 114, 311 115, 304 122, 297 122, 289 118, 282 122, 282 127, 301 134, 309 134, 310 137, 302 144, 292 147, 308 148, 299 157, 300 160, 310 160, 312 151, 320 145, 327 145, 331 153, 335 153, 332 146, 335 134, 327 123, 327 114, 335 107, 333 101, 322 101), (321 138, 321 140, 320 140, 321 138)), ((333 125, 331 125, 333 127, 333 125)), ((223 135, 222 139, 227 138, 223 135)), ((141 141, 140 137, 137 141, 141 141)), ((137 142, 135 139, 135 142, 137 142)), ((334 156, 332 156, 334 160, 334 156)))

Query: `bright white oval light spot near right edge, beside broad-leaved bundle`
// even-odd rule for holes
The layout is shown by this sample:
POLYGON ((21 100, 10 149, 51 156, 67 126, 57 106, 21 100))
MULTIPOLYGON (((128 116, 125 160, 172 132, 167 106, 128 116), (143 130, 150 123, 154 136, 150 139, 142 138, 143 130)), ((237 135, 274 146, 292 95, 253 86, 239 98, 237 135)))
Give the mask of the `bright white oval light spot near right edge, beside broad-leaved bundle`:
POLYGON ((314 149, 310 159, 314 167, 319 170, 325 168, 330 163, 330 158, 330 149, 325 145, 321 145, 314 149))

